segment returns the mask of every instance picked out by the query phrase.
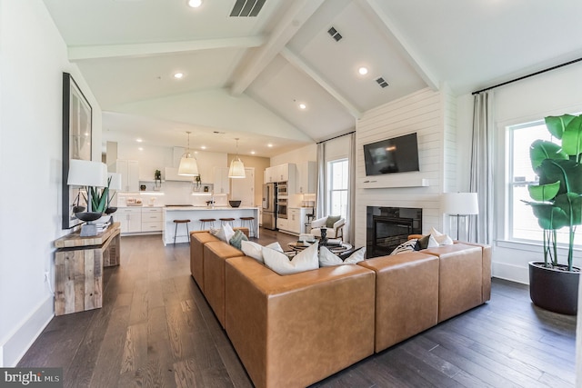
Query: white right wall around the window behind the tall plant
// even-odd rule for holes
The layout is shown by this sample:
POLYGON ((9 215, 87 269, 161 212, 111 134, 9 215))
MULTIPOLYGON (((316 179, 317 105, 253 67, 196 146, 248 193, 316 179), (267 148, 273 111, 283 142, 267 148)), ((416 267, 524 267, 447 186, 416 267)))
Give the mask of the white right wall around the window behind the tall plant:
MULTIPOLYGON (((507 125, 526 123, 543 119, 547 115, 582 112, 582 64, 568 65, 558 70, 536 75, 517 83, 495 89, 496 117, 496 164, 494 166, 495 182, 495 242, 493 252, 493 275, 496 277, 527 284, 527 262, 540 258, 542 248, 535 244, 516 244, 506 241, 505 219, 506 205, 506 127, 507 125)), ((473 99, 463 95, 457 99, 459 106, 459 126, 471 124, 473 116, 473 99), (463 124, 461 124, 463 123, 463 124)), ((471 136, 459 134, 459 180, 465 186, 468 183, 468 160, 471 136), (461 140, 462 136, 462 140, 461 140)), ((524 144, 529 146, 529 144, 524 144)), ((468 186, 468 184, 467 184, 468 186)), ((581 253, 577 253, 575 264, 582 264, 581 253)))

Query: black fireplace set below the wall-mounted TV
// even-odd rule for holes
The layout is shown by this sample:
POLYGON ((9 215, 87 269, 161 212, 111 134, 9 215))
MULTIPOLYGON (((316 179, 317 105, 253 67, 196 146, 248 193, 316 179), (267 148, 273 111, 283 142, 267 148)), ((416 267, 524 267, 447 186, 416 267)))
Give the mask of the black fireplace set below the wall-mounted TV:
POLYGON ((390 254, 408 234, 422 234, 422 209, 366 207, 366 258, 390 254))

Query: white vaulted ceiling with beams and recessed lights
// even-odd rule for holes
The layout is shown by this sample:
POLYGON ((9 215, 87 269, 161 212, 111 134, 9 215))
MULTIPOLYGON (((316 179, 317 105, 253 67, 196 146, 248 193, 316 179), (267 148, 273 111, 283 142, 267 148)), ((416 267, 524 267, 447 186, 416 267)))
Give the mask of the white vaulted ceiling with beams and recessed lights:
POLYGON ((184 146, 192 131, 207 151, 240 137, 240 154, 266 157, 427 86, 467 94, 582 56, 579 0, 266 0, 256 17, 229 17, 235 0, 45 5, 104 111, 104 141, 184 146))

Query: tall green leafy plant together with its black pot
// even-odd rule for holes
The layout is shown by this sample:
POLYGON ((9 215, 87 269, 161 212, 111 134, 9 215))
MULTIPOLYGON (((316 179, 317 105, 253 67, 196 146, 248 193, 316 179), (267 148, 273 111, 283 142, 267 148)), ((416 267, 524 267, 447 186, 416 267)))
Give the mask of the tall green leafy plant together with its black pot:
POLYGON ((529 263, 534 304, 556 313, 577 313, 580 270, 573 266, 574 237, 582 224, 582 115, 548 116, 547 130, 561 144, 536 140, 529 156, 539 184, 528 186, 527 202, 544 234, 544 262, 529 263), (567 228, 567 263, 557 257, 557 230, 567 228))

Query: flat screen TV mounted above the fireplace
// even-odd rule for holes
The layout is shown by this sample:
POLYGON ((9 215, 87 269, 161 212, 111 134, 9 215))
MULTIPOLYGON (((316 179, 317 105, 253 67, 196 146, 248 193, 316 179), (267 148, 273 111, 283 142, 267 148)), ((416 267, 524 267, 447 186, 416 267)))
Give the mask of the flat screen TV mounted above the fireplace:
POLYGON ((416 133, 364 144, 366 175, 420 171, 416 133))

